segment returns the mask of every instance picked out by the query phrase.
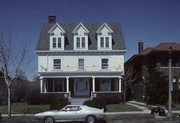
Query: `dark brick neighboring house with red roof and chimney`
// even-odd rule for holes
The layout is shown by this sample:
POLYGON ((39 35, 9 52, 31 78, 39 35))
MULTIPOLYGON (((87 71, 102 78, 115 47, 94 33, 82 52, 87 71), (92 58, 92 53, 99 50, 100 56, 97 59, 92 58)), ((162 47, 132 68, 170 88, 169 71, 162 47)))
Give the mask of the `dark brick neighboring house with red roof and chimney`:
POLYGON ((169 75, 169 53, 172 48, 172 82, 174 89, 180 89, 180 44, 160 43, 156 47, 143 49, 143 41, 139 41, 139 54, 133 55, 125 62, 125 67, 132 67, 139 76, 137 84, 133 86, 132 96, 134 100, 144 101, 145 84, 151 70, 158 70, 169 75))

